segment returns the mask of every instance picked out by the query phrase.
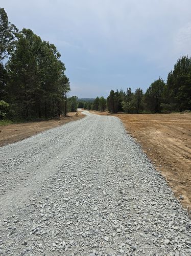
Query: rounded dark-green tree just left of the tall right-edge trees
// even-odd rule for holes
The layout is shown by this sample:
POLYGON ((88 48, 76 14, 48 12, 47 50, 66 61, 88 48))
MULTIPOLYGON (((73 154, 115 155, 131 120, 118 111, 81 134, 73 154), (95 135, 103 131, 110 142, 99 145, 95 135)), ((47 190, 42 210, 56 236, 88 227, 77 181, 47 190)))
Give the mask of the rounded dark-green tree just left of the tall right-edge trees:
POLYGON ((147 89, 144 97, 146 109, 150 112, 160 112, 160 105, 163 101, 163 92, 165 88, 164 80, 160 77, 155 80, 151 86, 147 89))

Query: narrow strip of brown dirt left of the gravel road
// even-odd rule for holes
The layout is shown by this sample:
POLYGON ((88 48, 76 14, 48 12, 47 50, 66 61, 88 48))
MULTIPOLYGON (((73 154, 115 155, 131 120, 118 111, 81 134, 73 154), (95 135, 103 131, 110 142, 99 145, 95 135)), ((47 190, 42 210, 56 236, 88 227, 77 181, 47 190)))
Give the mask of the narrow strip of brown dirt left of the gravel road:
POLYGON ((78 112, 78 115, 76 115, 76 113, 68 113, 67 117, 49 121, 17 123, 0 126, 0 146, 29 138, 37 133, 52 129, 56 126, 79 120, 84 116, 85 115, 81 112, 78 112))

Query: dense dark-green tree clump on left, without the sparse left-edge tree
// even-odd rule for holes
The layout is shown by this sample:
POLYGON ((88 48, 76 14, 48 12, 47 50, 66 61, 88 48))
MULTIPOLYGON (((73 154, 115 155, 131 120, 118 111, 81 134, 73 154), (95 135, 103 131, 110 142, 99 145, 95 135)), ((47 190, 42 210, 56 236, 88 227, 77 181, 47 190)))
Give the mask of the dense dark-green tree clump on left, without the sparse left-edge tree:
POLYGON ((27 119, 60 116, 65 113, 64 92, 69 90, 60 54, 30 29, 23 29, 17 38, 6 65, 13 114, 27 119))

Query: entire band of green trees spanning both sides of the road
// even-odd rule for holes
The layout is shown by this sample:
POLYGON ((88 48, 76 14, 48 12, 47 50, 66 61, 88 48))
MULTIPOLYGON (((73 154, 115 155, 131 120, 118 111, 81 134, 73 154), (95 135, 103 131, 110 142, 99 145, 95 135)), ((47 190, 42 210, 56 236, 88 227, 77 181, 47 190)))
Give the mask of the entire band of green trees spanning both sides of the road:
POLYGON ((126 92, 111 90, 107 100, 97 97, 80 102, 76 96, 67 100, 70 83, 60 56, 53 44, 42 41, 32 30, 24 28, 18 32, 0 8, 1 119, 54 118, 76 111, 77 107, 104 111, 106 105, 113 113, 191 110, 191 58, 188 56, 177 60, 166 84, 161 78, 155 80, 145 95, 140 88, 135 92, 128 88, 126 92))

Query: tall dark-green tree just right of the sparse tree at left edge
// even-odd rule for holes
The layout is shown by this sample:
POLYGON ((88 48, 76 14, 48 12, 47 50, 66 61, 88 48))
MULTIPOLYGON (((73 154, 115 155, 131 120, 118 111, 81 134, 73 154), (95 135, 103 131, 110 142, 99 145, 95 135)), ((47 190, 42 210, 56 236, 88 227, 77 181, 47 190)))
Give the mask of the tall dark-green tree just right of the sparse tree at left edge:
POLYGON ((18 33, 16 49, 7 63, 9 96, 13 108, 21 117, 28 118, 33 112, 34 93, 40 87, 38 79, 37 53, 41 39, 32 30, 18 33))

